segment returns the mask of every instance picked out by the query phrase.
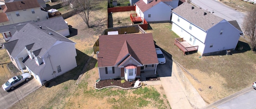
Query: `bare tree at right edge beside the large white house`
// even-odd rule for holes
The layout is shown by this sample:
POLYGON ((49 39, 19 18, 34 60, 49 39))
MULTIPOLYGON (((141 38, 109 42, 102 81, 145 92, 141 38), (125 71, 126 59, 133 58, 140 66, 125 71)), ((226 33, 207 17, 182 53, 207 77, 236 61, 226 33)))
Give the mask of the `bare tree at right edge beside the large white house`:
POLYGON ((251 8, 250 11, 247 12, 246 16, 244 17, 244 33, 248 35, 250 38, 250 46, 251 46, 251 51, 253 51, 256 47, 256 7, 254 6, 251 8))

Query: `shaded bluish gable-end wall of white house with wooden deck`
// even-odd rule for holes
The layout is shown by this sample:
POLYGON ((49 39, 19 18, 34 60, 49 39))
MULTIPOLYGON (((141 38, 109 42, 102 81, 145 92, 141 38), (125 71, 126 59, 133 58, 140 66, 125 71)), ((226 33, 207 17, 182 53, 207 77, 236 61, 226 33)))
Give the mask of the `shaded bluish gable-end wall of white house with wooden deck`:
POLYGON ((207 32, 204 53, 234 49, 240 38, 240 31, 226 21, 216 24, 207 32), (220 31, 223 30, 222 35, 220 31), (213 47, 210 45, 213 44, 213 47))

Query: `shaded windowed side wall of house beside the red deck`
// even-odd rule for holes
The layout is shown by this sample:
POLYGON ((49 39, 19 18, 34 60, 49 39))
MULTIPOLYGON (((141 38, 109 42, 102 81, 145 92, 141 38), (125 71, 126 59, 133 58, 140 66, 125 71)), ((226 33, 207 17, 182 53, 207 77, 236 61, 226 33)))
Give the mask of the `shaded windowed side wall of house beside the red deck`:
POLYGON ((172 8, 170 6, 160 2, 146 10, 143 14, 146 21, 170 21, 171 11, 172 8), (148 18, 148 14, 151 14, 150 18, 148 18))

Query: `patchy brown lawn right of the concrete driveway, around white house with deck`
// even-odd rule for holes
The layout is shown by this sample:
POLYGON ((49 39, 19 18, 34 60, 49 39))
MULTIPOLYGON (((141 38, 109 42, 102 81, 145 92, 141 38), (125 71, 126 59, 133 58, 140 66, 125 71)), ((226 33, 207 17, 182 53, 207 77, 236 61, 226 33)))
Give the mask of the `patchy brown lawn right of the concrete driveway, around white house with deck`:
POLYGON ((180 63, 186 70, 193 74, 201 83, 195 82, 189 75, 190 82, 198 89, 200 95, 207 103, 213 103, 228 95, 252 85, 256 80, 256 54, 248 51, 248 42, 240 38, 238 45, 242 51, 236 51, 232 55, 200 56, 198 53, 183 56, 174 45, 174 39, 178 36, 171 30, 170 23, 152 23, 151 30, 156 45, 170 53, 172 58, 180 63), (208 89, 212 86, 212 89, 208 89))

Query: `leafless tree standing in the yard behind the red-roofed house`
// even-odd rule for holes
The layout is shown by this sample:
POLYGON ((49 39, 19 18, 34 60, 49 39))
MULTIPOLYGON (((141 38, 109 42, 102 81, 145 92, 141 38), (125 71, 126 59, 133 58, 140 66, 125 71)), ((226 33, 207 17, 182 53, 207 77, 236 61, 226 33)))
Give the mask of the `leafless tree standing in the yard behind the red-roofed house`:
POLYGON ((72 0, 72 3, 73 3, 73 8, 75 10, 78 10, 78 14, 84 20, 87 27, 90 27, 89 15, 90 15, 90 9, 92 5, 92 0, 72 0))

